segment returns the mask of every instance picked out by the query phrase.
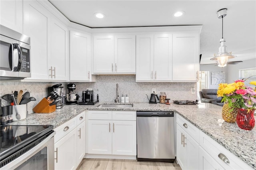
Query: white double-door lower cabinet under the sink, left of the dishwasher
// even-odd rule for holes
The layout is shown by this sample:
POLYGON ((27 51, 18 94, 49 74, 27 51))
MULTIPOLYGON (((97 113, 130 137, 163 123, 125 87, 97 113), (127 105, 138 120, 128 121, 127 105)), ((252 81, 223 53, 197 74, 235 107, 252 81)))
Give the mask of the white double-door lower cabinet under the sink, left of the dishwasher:
POLYGON ((137 154, 135 111, 89 111, 88 117, 88 154, 137 154))

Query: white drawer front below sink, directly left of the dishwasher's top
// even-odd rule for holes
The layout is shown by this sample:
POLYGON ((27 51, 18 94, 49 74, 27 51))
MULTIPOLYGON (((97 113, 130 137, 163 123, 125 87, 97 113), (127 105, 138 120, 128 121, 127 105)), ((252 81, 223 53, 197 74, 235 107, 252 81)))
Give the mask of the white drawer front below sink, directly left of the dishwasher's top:
POLYGON ((112 111, 112 120, 136 121, 136 112, 135 111, 112 111))

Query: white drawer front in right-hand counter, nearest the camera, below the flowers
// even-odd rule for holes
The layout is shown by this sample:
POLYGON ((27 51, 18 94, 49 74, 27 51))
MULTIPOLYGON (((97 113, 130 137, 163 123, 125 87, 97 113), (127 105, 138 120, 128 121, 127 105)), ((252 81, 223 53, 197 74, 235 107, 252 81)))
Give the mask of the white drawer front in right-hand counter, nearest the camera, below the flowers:
POLYGON ((232 154, 229 150, 221 146, 218 142, 210 138, 207 134, 200 130, 200 146, 206 150, 206 152, 214 158, 224 169, 245 169, 250 170, 248 164, 240 160, 237 156, 232 154), (224 162, 224 160, 229 161, 229 163, 224 162))

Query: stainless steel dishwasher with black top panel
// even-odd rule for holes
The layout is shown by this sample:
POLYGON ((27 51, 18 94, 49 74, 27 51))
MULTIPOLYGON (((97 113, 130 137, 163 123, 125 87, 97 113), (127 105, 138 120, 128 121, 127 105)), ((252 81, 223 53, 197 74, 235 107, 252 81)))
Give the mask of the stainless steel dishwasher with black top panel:
POLYGON ((137 111, 137 160, 174 162, 174 112, 137 111))

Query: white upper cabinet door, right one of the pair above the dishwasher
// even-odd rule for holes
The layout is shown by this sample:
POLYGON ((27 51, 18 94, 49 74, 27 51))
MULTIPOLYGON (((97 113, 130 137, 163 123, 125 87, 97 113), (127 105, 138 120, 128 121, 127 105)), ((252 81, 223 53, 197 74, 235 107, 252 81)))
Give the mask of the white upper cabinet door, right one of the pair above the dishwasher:
POLYGON ((172 80, 172 34, 154 35, 154 80, 172 80))

